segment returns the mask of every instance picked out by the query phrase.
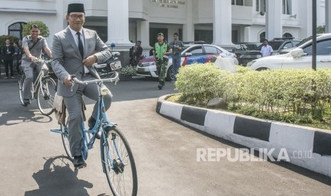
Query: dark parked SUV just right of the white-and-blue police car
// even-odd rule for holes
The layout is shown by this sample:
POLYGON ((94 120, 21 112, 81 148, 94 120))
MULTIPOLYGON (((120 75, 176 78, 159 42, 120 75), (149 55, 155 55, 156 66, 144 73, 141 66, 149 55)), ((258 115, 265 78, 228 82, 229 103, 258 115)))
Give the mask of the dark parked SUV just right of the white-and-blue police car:
POLYGON ((232 49, 238 59, 238 65, 246 66, 247 62, 261 58, 260 50, 257 50, 261 43, 237 43, 232 49))

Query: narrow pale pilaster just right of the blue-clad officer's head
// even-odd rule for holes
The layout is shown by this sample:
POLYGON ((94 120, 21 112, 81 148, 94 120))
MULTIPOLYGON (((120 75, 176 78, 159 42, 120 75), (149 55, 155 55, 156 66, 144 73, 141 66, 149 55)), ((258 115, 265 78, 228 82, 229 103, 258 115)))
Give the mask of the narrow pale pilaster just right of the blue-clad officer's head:
POLYGON ((186 1, 186 24, 183 25, 183 40, 194 41, 194 23, 192 1, 186 1))

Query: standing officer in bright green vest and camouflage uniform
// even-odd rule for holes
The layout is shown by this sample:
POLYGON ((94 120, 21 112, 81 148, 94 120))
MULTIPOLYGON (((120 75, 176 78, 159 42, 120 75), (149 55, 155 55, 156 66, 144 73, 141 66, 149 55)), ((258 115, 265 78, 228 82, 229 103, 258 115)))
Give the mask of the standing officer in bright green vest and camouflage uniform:
POLYGON ((170 45, 164 41, 164 34, 157 34, 157 43, 154 44, 153 47, 153 57, 155 60, 155 64, 157 65, 157 74, 159 75, 159 89, 164 87, 165 76, 167 71, 167 65, 169 58, 167 55, 172 53, 172 49, 170 45))

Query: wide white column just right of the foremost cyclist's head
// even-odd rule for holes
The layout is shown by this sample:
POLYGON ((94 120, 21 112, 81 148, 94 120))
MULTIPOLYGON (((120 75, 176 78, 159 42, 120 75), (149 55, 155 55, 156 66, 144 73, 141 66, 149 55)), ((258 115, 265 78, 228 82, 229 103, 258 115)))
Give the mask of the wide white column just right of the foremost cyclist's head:
POLYGON ((129 0, 107 0, 107 45, 115 43, 117 50, 129 50, 129 0))

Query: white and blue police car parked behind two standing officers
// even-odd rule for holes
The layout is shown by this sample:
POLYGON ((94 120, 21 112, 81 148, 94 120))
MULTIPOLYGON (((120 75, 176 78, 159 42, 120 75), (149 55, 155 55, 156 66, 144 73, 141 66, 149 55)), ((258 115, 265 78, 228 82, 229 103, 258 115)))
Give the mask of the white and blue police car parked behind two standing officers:
MULTIPOLYGON (((233 62, 238 65, 236 55, 228 52, 224 48, 217 45, 210 44, 193 44, 182 51, 181 65, 190 65, 192 63, 206 63, 211 62, 213 57, 221 55, 224 58, 232 58, 233 62)), ((153 56, 149 56, 140 60, 137 67, 137 75, 145 77, 159 77, 157 75, 157 67, 153 56)), ((167 65, 166 80, 172 80, 172 58, 169 55, 169 62, 167 65)))

